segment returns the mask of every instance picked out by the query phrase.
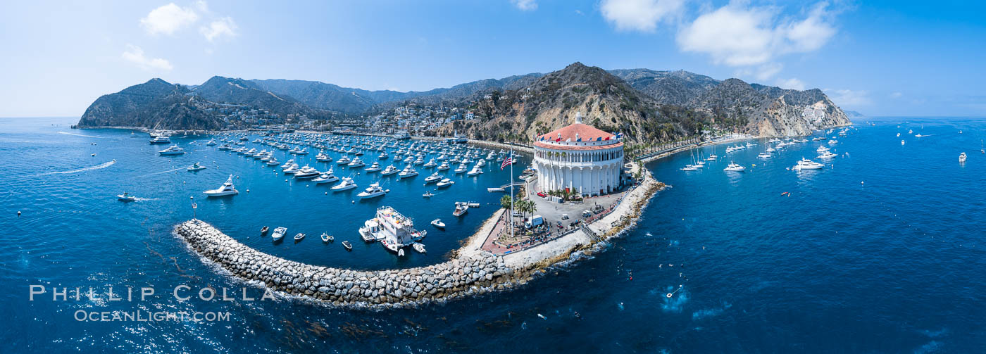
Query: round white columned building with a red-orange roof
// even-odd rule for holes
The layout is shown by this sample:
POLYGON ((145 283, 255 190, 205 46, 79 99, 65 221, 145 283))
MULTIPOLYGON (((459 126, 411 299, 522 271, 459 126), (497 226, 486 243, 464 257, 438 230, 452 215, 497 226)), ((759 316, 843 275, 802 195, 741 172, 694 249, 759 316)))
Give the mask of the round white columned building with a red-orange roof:
POLYGON ((541 191, 606 194, 620 185, 623 142, 583 124, 582 113, 577 112, 574 124, 536 137, 533 165, 541 191))

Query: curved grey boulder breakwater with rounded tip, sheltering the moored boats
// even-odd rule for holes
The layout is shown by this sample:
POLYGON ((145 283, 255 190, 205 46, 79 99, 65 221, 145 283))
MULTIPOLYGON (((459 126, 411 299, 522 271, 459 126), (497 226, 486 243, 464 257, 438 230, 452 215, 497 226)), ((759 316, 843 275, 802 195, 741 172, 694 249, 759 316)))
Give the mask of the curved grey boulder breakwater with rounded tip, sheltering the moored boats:
POLYGON ((200 220, 176 225, 175 234, 199 255, 236 276, 337 306, 408 306, 499 290, 530 278, 527 270, 514 271, 494 255, 459 256, 417 268, 361 271, 270 255, 200 220))

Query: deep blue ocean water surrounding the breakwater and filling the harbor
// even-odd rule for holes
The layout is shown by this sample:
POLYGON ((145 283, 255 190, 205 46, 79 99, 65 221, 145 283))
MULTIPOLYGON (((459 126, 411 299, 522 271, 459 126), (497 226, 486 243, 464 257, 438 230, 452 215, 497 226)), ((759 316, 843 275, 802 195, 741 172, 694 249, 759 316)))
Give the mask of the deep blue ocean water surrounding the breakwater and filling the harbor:
MULTIPOLYGON (((69 129, 74 120, 0 119, 0 155, 8 160, 0 166, 5 352, 928 353, 986 345, 986 155, 979 152, 986 120, 861 122, 832 146, 839 158, 800 173, 787 168, 814 159, 825 142, 788 147, 768 160, 756 158, 762 139, 731 154, 723 145, 680 153, 649 165, 672 187, 603 251, 513 291, 384 311, 285 298, 178 301, 171 296, 178 285, 192 295, 208 287, 238 296, 246 287, 254 298, 262 291, 203 263, 171 228, 191 217, 194 195, 200 219, 286 258, 360 269, 431 264, 495 211, 500 194, 485 188, 507 174, 489 167, 430 200, 420 196, 423 175, 390 180, 387 196, 354 203, 358 189, 325 195, 327 186, 284 181, 253 160, 188 144, 204 137, 175 139, 189 152, 158 157, 164 146, 148 145, 146 135, 69 129), (963 151, 968 161, 959 164, 963 151), (720 161, 703 171, 678 171, 712 153, 720 161), (183 170, 196 161, 208 169, 183 170), (747 171, 723 172, 729 161, 747 171), (239 177, 240 195, 202 198, 201 190, 230 174, 239 177), (113 195, 124 190, 141 200, 117 202, 113 195), (456 221, 456 200, 484 205, 456 221), (355 229, 379 205, 428 230, 429 252, 397 259, 356 242, 355 229), (450 224, 444 233, 427 225, 439 217, 450 224), (273 245, 258 237, 263 225, 309 238, 273 245), (322 245, 322 231, 336 243, 322 245), (356 249, 346 252, 342 240, 356 249), (157 294, 53 301, 49 293, 29 301, 33 284, 94 287, 104 295, 109 286, 154 287, 157 294), (223 312, 230 319, 79 321, 79 310, 223 312)), ((362 186, 370 180, 357 176, 362 186)))

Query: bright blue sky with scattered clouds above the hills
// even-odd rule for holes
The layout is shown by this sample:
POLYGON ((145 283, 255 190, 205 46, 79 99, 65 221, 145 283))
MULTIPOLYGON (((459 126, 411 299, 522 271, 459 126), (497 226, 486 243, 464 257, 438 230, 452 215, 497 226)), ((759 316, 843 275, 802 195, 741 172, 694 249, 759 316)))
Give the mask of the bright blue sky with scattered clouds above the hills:
POLYGON ((429 90, 683 69, 872 115, 986 116, 986 6, 939 1, 127 1, 0 5, 0 116, 78 116, 160 77, 429 90))

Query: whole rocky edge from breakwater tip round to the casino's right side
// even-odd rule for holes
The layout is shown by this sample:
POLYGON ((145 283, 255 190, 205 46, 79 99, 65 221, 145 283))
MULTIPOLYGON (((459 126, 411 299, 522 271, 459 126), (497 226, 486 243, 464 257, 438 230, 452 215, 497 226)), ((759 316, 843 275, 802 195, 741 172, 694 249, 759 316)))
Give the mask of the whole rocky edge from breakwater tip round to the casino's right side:
MULTIPOLYGON (((634 165, 638 167, 643 169, 634 165)), ((422 267, 363 271, 306 264, 249 248, 196 219, 177 224, 173 235, 204 263, 212 262, 229 275, 282 295, 342 308, 406 308, 525 285, 543 274, 544 268, 622 235, 666 187, 647 169, 643 171, 643 180, 613 212, 587 226, 598 234, 596 241, 580 230, 537 247, 494 255, 482 250, 482 245, 504 212, 501 208, 461 241, 462 247, 450 253, 451 259, 422 267)))

